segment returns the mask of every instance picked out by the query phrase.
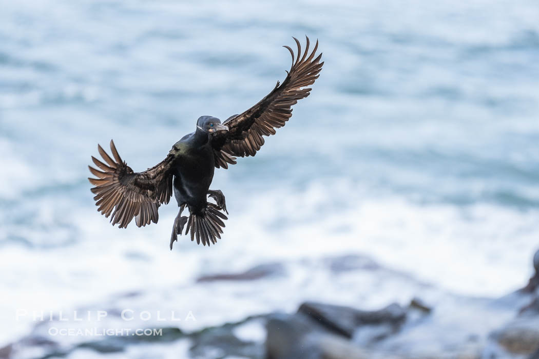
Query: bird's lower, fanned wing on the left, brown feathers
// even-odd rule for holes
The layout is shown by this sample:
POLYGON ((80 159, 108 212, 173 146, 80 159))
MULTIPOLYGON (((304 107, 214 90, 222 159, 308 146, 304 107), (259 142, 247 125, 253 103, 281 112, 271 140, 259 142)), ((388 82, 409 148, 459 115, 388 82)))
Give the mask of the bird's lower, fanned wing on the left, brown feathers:
POLYGON ((95 187, 95 205, 105 217, 110 214, 110 222, 119 223, 120 228, 126 228, 135 217, 138 227, 151 222, 157 223, 157 209, 161 203, 168 203, 172 196, 172 163, 174 155, 169 153, 167 158, 140 173, 133 172, 125 161, 122 161, 114 142, 110 140, 110 151, 114 159, 98 145, 98 151, 106 163, 92 156, 92 161, 99 168, 88 166, 90 172, 98 178, 88 178, 95 187))

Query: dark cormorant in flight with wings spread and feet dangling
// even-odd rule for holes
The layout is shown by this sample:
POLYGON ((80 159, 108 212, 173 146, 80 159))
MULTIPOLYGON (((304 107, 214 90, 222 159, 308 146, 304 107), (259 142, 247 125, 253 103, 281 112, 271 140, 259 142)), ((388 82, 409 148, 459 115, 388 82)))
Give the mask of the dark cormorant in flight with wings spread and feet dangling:
POLYGON ((168 156, 144 172, 133 170, 122 161, 114 142, 110 140, 113 158, 98 145, 98 151, 105 163, 92 156, 99 170, 88 166, 98 178, 88 178, 98 211, 110 222, 126 228, 135 218, 138 227, 151 222, 157 223, 157 209, 168 203, 172 192, 178 202, 179 212, 172 227, 170 249, 182 234, 191 232, 191 241, 210 245, 221 238, 224 220, 227 219, 225 196, 219 190, 211 190, 215 167, 228 168, 236 164, 236 157, 254 156, 264 144, 264 137, 275 134, 275 129, 285 125, 292 116, 292 105, 307 97, 310 88, 319 77, 323 62, 322 54, 315 57, 318 41, 309 54, 309 38, 305 52, 298 57, 289 46, 284 46, 292 55, 292 67, 282 84, 277 81, 275 88, 253 107, 240 115, 234 115, 221 123, 216 117, 198 118, 195 132, 185 135, 168 153, 168 156), (301 56, 301 58, 300 58, 301 56), (208 197, 215 204, 208 202, 208 197), (184 208, 189 216, 182 216, 184 208))

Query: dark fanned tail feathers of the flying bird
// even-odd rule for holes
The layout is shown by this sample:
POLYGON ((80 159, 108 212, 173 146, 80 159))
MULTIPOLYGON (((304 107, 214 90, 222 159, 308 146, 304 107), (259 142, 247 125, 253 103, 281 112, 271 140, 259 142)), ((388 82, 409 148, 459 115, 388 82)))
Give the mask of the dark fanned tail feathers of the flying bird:
POLYGON ((211 243, 217 243, 217 238, 221 239, 221 234, 225 227, 223 220, 228 219, 222 212, 220 212, 221 210, 221 207, 208 202, 204 214, 197 215, 191 213, 185 228, 185 235, 190 231, 191 241, 194 241, 196 237, 197 244, 200 244, 201 241, 203 245, 206 245, 207 243, 208 246, 211 243))

